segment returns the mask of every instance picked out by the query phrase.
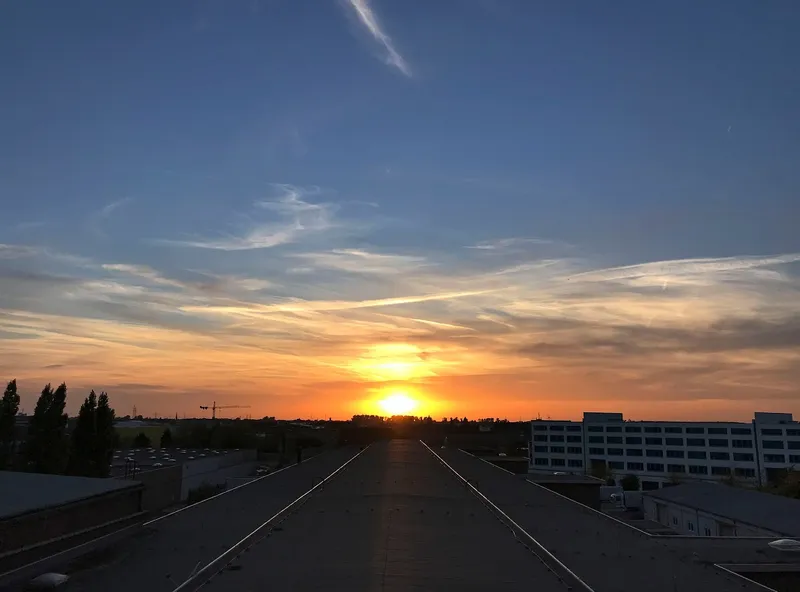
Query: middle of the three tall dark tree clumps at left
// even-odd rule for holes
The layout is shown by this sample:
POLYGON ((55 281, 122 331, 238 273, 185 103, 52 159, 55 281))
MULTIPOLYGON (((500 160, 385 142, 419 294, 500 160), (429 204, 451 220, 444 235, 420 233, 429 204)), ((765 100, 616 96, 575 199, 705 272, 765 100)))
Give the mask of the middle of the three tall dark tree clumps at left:
POLYGON ((42 389, 33 417, 28 424, 25 444, 26 468, 36 473, 61 474, 67 460, 65 431, 67 414, 67 385, 61 383, 54 391, 48 384, 42 389))

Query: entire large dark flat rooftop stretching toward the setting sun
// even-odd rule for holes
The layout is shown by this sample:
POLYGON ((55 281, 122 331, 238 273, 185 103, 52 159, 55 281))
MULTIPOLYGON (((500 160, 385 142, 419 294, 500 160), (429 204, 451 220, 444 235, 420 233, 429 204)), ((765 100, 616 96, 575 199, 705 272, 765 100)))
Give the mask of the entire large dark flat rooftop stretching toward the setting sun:
MULTIPOLYGON (((188 507, 58 571, 70 574, 73 592, 171 592, 356 452, 332 450, 188 507)), ((746 559, 760 547, 648 537, 457 449, 433 453, 595 592, 764 592, 709 561, 746 559)), ((416 441, 367 448, 264 534, 204 589, 566 590, 416 441)))

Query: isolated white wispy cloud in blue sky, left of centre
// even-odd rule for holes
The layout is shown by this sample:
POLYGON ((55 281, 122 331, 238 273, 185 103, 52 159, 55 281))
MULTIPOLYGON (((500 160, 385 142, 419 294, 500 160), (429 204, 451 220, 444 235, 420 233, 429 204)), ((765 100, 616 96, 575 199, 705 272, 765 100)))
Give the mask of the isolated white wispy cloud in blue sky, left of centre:
POLYGON ((249 251, 293 243, 301 236, 324 232, 334 226, 336 204, 307 201, 308 196, 319 193, 319 188, 301 188, 286 184, 277 184, 274 187, 280 195, 269 200, 257 201, 254 207, 273 212, 279 221, 253 221, 251 218, 250 227, 238 236, 226 235, 188 240, 157 239, 151 242, 197 249, 249 251))

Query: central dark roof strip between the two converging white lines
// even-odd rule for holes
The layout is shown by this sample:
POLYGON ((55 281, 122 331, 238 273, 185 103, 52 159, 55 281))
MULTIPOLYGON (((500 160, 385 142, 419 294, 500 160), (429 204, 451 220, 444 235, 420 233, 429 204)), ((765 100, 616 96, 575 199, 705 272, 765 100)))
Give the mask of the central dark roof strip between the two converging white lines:
POLYGON ((567 591, 410 440, 373 444, 202 589, 567 591))

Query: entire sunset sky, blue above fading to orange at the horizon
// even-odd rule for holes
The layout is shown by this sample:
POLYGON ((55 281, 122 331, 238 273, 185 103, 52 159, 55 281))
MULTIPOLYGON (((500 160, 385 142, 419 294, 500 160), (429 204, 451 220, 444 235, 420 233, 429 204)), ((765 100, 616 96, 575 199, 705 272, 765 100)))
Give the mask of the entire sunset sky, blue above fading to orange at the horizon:
POLYGON ((0 378, 800 415, 800 4, 9 0, 0 378))

